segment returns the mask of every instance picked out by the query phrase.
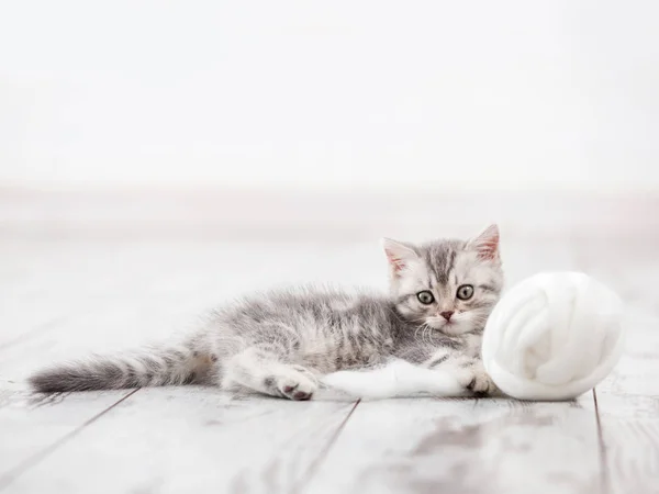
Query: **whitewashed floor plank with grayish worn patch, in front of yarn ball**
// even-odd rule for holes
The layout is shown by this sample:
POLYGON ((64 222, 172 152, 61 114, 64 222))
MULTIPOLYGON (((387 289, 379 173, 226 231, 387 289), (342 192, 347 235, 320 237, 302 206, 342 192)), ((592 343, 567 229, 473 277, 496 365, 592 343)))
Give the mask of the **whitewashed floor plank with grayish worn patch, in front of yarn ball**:
POLYGON ((579 403, 360 403, 309 493, 597 493, 595 418, 579 403))

